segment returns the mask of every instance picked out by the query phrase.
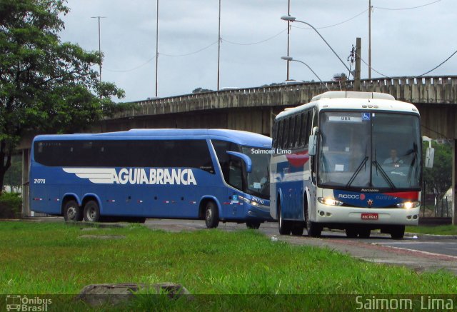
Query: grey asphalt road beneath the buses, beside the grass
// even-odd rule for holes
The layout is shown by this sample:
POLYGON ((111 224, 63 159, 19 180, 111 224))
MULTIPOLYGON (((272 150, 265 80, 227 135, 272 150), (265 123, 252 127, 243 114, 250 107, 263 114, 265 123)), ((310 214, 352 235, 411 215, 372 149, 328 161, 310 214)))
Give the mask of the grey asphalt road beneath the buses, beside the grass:
MULTIPOLYGON (((206 230, 204 221, 152 220, 146 221, 149 228, 166 231, 206 230)), ((238 231, 245 224, 220 223, 219 229, 238 231)), ((272 240, 287 241, 296 245, 318 246, 348 253, 356 258, 374 263, 408 266, 416 271, 445 269, 457 275, 456 236, 405 236, 403 240, 393 240, 388 234, 371 231, 370 238, 347 238, 342 231, 323 231, 321 238, 306 236, 281 236, 277 223, 263 223, 258 229, 272 240)))

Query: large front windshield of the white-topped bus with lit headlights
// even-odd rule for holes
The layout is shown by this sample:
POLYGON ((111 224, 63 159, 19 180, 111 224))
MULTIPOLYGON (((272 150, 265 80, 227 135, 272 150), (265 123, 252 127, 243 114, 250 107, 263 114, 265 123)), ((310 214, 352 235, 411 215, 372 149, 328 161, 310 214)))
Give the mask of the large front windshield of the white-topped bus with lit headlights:
POLYGON ((420 189, 417 115, 326 111, 319 124, 318 183, 328 188, 420 189))

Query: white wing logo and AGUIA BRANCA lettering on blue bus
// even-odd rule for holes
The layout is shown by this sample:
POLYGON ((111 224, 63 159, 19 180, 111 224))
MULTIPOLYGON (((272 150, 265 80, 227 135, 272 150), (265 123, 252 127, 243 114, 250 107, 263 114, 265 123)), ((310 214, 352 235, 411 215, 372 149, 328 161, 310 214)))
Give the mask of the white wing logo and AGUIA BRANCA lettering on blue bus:
POLYGON ((63 168, 78 178, 87 178, 96 184, 177 184, 197 185, 192 169, 168 168, 63 168))

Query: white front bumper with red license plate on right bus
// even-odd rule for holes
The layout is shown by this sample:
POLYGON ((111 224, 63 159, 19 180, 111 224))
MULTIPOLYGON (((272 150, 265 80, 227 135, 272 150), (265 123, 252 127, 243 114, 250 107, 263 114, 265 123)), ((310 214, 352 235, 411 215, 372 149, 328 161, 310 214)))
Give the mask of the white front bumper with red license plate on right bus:
POLYGON ((351 208, 322 203, 317 203, 316 208, 318 223, 356 223, 369 226, 417 226, 420 213, 420 208, 351 208))

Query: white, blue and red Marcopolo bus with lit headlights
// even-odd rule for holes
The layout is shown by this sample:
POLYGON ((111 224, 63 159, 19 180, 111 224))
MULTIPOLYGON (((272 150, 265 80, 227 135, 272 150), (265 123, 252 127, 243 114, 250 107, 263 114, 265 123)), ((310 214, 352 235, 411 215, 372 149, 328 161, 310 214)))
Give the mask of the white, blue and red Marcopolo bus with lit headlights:
MULTIPOLYGON (((412 104, 375 92, 326 92, 276 116, 273 151, 270 213, 281 234, 306 227, 321 236, 326 227, 352 238, 373 229, 403 238, 406 225, 418 224, 422 140, 412 104)), ((433 163, 433 149, 427 155, 433 163)))

